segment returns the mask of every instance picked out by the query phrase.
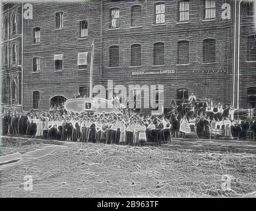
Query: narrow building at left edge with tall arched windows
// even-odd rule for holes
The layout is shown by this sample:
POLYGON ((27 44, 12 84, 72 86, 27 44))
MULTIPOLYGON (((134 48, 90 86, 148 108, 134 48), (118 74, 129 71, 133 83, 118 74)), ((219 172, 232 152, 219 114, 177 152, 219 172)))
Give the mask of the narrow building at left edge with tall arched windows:
POLYGON ((1 103, 20 107, 22 80, 22 7, 3 3, 1 37, 1 103))

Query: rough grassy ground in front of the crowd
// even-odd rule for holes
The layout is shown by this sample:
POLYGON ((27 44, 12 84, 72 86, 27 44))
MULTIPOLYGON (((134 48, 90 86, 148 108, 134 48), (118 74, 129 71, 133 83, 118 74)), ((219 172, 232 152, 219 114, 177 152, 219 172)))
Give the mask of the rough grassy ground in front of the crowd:
MULTIPOLYGON (((1 155, 26 154, 49 140, 3 138, 1 155)), ((69 142, 42 158, 1 169, 0 197, 210 197, 256 191, 256 143, 176 139, 160 147, 69 142), (24 191, 24 175, 33 190, 24 191), (222 189, 223 175, 231 190, 222 189)))

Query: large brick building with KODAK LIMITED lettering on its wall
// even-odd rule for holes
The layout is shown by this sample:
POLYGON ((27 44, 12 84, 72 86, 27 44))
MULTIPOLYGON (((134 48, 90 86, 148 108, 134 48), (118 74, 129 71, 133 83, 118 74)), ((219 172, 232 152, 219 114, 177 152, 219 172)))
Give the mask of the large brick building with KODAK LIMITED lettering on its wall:
MULTIPOLYGON (((32 20, 23 21, 25 110, 49 109, 78 92, 88 96, 93 40, 94 85, 161 84, 164 106, 192 93, 255 106, 252 3, 106 0, 32 6, 32 20)), ((148 96, 139 88, 133 94, 143 106, 148 96)))

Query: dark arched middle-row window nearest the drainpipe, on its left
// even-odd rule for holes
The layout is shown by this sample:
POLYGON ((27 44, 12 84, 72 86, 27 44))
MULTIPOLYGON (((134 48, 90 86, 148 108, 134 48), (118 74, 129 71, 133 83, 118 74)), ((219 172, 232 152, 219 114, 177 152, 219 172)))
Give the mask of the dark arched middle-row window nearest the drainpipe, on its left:
POLYGON ((206 39, 203 41, 203 63, 215 62, 216 42, 214 39, 206 39))

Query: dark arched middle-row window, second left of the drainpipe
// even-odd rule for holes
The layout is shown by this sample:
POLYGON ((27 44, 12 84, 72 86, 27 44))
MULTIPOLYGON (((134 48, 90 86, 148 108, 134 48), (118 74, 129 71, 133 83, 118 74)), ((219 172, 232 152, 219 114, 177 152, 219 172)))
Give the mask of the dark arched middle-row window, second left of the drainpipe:
POLYGON ((189 63, 189 42, 181 40, 177 43, 177 64, 189 63))

